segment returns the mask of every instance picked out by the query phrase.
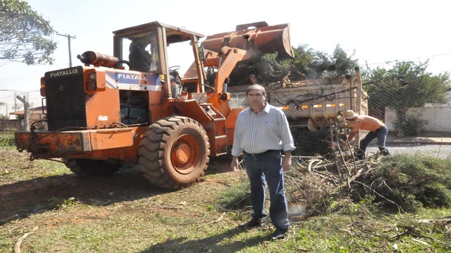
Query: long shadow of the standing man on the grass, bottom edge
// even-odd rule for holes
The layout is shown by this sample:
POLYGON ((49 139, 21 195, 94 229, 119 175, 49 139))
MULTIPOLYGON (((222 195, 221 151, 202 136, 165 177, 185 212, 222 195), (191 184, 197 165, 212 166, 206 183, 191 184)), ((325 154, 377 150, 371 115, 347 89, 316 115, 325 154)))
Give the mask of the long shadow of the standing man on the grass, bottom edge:
POLYGON ((186 237, 175 238, 163 243, 157 243, 141 251, 145 252, 237 252, 245 247, 252 247, 266 241, 266 236, 247 238, 245 241, 233 241, 233 236, 247 232, 239 227, 227 230, 222 234, 216 234, 200 239, 186 240, 186 237), (227 239, 227 242, 222 242, 227 239))

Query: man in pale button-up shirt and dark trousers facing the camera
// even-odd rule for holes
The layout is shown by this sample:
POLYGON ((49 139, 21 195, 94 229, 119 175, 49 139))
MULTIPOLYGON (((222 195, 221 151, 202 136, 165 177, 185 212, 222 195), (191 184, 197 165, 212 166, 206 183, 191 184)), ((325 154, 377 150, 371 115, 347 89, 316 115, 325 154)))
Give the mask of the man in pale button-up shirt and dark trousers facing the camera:
POLYGON ((263 86, 253 84, 246 91, 249 108, 241 111, 235 125, 231 168, 238 171, 238 156, 243 153, 251 186, 254 214, 246 227, 256 227, 267 216, 265 185, 269 188, 269 217, 276 230, 269 240, 285 237, 290 227, 288 203, 285 198, 283 170, 291 166, 291 151, 295 148, 285 113, 267 102, 263 86), (285 156, 281 156, 283 151, 285 156))

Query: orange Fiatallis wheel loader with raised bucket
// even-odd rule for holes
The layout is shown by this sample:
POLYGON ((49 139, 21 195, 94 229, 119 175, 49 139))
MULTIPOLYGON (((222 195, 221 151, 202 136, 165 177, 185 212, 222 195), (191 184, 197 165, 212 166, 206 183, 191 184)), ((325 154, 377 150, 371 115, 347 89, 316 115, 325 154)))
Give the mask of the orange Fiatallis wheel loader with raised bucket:
POLYGON ((113 32, 114 53, 86 51, 80 66, 40 79, 46 130, 35 122, 15 133, 30 160, 60 158, 79 176, 114 174, 139 165, 152 184, 182 189, 198 182, 210 157, 227 154, 238 113, 229 75, 265 53, 292 57, 290 25, 264 21, 205 36, 159 21, 113 32), (186 44, 193 64, 170 66, 170 49, 186 44), (206 68, 216 72, 206 83, 206 68))

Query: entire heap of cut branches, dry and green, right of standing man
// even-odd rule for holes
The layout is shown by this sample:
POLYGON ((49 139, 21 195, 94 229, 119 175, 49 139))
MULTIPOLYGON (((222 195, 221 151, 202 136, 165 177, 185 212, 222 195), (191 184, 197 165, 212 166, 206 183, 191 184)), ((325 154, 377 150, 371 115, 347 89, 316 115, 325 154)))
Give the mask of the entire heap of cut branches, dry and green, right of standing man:
POLYGON ((451 207, 450 160, 382 153, 357 160, 346 138, 333 130, 330 135, 335 138, 329 156, 292 156, 292 169, 285 172, 291 221, 346 214, 348 220, 328 216, 327 224, 348 235, 343 243, 358 252, 397 251, 398 244, 411 241, 421 252, 451 248, 450 216, 414 214, 421 206, 451 207), (396 215, 374 219, 378 210, 396 215))

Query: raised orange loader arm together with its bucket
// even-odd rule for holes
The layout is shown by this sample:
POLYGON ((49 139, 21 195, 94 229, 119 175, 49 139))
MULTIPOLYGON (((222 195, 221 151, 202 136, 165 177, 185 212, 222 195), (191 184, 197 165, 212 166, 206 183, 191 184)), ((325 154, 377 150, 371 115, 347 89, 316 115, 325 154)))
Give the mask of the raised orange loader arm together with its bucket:
POLYGON ((292 58, 294 53, 290 43, 290 24, 268 26, 266 22, 256 22, 236 26, 234 32, 222 32, 206 37, 202 41, 205 50, 204 67, 214 67, 215 95, 209 103, 219 109, 222 115, 229 114, 227 83, 233 68, 240 64, 258 62, 265 53, 278 53, 281 59, 292 58))

